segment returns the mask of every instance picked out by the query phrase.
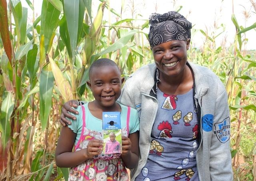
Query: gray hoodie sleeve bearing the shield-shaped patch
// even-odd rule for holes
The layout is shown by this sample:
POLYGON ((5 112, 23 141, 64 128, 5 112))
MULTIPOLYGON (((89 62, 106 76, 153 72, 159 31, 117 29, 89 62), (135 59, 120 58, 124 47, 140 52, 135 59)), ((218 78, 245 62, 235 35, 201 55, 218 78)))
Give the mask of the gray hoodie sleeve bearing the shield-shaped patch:
POLYGON ((222 92, 216 97, 213 123, 210 146, 211 180, 233 181, 230 152, 230 112, 224 86, 222 86, 222 92))

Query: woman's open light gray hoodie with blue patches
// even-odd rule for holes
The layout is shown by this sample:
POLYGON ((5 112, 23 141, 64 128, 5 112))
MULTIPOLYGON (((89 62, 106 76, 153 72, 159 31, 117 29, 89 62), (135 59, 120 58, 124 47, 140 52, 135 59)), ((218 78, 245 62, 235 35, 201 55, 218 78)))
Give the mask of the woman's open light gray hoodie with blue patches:
MULTIPOLYGON (((187 62, 194 74, 194 103, 199 125, 199 147, 196 153, 200 181, 232 181, 230 153, 230 113, 228 97, 218 76, 206 67, 187 62)), ((134 72, 125 82, 118 99, 137 109, 140 116, 140 157, 131 170, 133 181, 148 159, 151 130, 156 118, 158 101, 152 95, 156 65, 148 64, 134 72)))

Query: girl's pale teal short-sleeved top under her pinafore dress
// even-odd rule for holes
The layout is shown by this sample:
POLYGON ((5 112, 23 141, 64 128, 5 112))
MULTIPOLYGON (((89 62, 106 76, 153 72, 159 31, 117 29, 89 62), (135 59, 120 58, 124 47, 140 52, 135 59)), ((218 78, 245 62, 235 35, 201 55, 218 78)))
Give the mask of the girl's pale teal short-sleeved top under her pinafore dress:
MULTIPOLYGON (((120 104, 120 103, 119 103, 120 104)), ((88 109, 88 103, 85 103, 83 105, 85 107, 85 114, 86 114, 86 128, 93 130, 93 131, 102 131, 103 130, 103 124, 102 119, 98 119, 97 117, 94 117, 90 110, 88 109)), ((121 127, 126 127, 126 119, 127 119, 127 110, 128 107, 125 105, 120 104, 120 107, 122 109, 120 117, 121 117, 121 127)), ((82 126, 83 126, 83 114, 82 114, 82 107, 79 105, 76 109, 79 114, 73 114, 76 117, 76 120, 68 119, 71 121, 71 125, 68 125, 68 127, 76 133, 76 141, 75 144, 77 144, 81 132, 82 132, 82 126)), ((129 120, 129 134, 135 133, 139 130, 139 117, 138 112, 136 109, 130 107, 130 120, 129 120)))

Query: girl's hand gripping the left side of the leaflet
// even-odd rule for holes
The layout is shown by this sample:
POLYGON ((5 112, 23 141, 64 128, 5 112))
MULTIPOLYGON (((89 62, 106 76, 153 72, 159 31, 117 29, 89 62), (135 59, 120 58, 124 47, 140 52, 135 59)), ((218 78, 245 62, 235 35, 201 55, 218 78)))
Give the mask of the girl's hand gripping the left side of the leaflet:
POLYGON ((99 139, 92 139, 89 141, 86 150, 88 158, 93 158, 95 155, 99 155, 103 150, 103 141, 99 139))

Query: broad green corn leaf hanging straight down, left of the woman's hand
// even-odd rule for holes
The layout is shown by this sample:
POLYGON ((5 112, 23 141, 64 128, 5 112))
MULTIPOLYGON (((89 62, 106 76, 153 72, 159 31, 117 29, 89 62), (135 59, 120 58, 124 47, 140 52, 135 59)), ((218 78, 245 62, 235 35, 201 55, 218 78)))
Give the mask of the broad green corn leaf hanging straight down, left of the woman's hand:
POLYGON ((42 130, 46 128, 50 109, 52 107, 52 90, 54 86, 54 77, 51 71, 42 70, 40 74, 40 121, 42 130))

